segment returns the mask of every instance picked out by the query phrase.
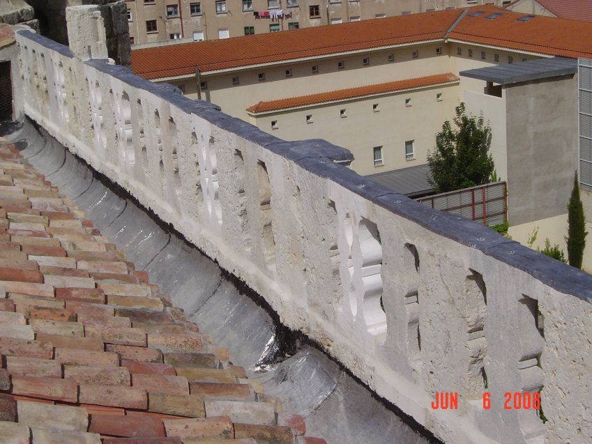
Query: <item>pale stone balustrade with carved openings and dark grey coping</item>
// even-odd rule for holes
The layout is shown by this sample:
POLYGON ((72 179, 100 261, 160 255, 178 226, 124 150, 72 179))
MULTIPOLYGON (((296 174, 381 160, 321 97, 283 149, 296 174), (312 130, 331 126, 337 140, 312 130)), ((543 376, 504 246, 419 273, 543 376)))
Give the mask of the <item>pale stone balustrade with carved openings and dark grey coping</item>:
POLYGON ((28 31, 17 49, 30 118, 443 441, 592 436, 592 277, 389 192, 326 141, 282 141, 28 31), (543 386, 546 423, 504 408, 543 386), (435 392, 458 409, 432 410, 435 392))

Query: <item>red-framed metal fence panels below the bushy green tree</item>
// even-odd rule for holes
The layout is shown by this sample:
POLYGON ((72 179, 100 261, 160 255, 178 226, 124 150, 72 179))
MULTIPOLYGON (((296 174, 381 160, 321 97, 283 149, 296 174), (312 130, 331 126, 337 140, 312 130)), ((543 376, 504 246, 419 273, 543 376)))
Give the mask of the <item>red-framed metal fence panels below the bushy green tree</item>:
POLYGON ((460 214, 488 226, 503 224, 507 219, 506 182, 487 183, 416 200, 437 210, 460 214))

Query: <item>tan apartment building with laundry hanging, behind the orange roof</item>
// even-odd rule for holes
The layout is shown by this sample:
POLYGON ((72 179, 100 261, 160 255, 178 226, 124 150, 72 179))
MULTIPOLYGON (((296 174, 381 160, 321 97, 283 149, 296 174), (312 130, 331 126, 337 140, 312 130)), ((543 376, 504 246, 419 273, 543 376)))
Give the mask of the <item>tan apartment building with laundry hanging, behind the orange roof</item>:
POLYGON ((132 44, 218 40, 503 0, 128 0, 132 44))

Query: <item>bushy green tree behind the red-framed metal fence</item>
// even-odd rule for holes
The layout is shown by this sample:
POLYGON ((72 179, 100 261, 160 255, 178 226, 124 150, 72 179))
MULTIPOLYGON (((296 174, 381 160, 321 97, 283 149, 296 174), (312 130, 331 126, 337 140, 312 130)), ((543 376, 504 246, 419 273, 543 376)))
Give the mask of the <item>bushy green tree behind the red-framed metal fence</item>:
POLYGON ((464 103, 456 107, 455 128, 444 122, 436 135, 436 148, 427 155, 432 178, 430 183, 437 192, 460 190, 489 183, 495 174, 489 146, 492 129, 483 115, 466 114, 464 103))

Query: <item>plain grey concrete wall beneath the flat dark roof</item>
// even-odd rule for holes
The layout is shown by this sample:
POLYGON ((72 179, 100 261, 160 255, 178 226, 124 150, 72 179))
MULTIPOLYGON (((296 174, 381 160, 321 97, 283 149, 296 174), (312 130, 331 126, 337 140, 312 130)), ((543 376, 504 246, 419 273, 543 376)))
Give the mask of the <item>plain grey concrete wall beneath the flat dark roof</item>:
POLYGON ((577 76, 506 86, 508 222, 566 213, 577 170, 577 76))

